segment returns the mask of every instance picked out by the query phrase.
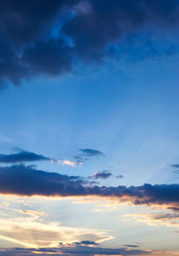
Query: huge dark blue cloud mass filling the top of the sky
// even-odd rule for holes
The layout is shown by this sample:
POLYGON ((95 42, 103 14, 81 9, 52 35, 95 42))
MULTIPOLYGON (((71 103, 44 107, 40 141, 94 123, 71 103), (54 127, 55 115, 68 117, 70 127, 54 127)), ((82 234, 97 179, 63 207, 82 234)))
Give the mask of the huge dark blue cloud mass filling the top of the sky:
POLYGON ((177 33, 177 0, 2 0, 0 81, 58 76, 75 60, 107 55, 110 44, 143 30, 177 33), (56 25, 57 24, 57 25, 56 25))

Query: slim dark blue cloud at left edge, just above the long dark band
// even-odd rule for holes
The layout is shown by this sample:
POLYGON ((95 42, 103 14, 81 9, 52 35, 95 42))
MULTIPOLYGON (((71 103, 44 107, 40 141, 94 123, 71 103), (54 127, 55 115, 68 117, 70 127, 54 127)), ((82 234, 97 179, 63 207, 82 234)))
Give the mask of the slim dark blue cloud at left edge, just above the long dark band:
POLYGON ((0 163, 20 163, 20 162, 31 162, 31 161, 40 161, 40 160, 50 160, 42 155, 38 155, 33 152, 21 150, 15 154, 4 155, 0 154, 0 163))

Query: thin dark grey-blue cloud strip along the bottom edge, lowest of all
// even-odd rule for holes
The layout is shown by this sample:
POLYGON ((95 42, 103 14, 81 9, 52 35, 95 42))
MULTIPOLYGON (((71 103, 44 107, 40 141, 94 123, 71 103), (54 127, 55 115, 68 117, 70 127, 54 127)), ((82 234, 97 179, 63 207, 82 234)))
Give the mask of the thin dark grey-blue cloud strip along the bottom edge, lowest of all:
POLYGON ((14 248, 14 249, 4 249, 0 250, 2 256, 36 256, 36 255, 48 255, 48 253, 53 253, 53 255, 90 255, 94 256, 100 255, 143 255, 148 254, 149 251, 133 250, 125 248, 102 248, 102 247, 91 247, 91 246, 65 246, 59 248, 41 248, 41 249, 28 249, 28 248, 14 248))

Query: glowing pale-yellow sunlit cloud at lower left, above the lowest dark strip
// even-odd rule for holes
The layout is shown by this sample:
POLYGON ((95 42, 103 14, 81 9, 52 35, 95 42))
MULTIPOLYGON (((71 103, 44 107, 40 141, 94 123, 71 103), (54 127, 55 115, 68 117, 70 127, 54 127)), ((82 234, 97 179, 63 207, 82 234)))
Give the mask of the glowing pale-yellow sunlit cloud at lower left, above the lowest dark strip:
MULTIPOLYGON (((66 246, 74 241, 85 245, 94 241, 107 241, 114 236, 108 235, 106 231, 78 226, 63 226, 56 221, 44 221, 42 215, 29 215, 20 212, 16 217, 7 215, 0 217, 1 234, 0 243, 8 241, 9 247, 25 246, 29 248, 56 247, 59 241, 66 246), (81 241, 83 241, 81 243, 81 241)), ((89 244, 89 245, 92 245, 89 244)), ((1 252, 0 252, 1 255, 1 252)))

